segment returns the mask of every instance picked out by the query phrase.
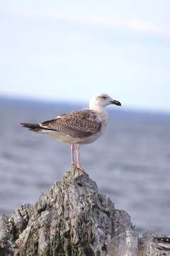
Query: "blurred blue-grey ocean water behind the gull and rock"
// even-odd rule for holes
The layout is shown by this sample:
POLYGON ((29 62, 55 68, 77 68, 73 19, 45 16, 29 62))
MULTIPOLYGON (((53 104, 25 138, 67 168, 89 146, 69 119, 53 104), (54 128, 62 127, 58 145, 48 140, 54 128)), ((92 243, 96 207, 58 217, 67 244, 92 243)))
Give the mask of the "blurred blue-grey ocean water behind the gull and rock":
MULTIPOLYGON (((23 129, 84 105, 0 98, 0 215, 38 200, 70 166, 69 145, 23 129)), ((170 115, 109 108, 103 137, 81 146, 81 164, 126 210, 139 233, 170 235, 170 115)))

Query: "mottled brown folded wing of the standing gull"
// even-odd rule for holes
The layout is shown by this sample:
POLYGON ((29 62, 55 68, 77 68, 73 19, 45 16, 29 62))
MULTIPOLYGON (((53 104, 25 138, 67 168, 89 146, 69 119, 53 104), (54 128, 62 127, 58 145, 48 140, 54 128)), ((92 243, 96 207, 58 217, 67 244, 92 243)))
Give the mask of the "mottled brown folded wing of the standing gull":
POLYGON ((72 137, 89 137, 101 129, 101 122, 97 122, 96 113, 91 110, 81 110, 61 114, 60 117, 40 124, 41 127, 64 132, 72 137))

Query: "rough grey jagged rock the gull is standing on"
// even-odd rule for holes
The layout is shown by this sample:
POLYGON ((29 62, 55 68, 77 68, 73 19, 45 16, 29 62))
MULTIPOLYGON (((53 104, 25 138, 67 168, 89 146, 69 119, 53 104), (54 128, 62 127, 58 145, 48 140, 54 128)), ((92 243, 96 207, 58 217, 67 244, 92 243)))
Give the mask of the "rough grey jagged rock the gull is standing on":
POLYGON ((12 255, 169 256, 170 248, 168 239, 154 233, 138 238, 128 213, 72 167, 35 206, 0 216, 0 256, 12 255))

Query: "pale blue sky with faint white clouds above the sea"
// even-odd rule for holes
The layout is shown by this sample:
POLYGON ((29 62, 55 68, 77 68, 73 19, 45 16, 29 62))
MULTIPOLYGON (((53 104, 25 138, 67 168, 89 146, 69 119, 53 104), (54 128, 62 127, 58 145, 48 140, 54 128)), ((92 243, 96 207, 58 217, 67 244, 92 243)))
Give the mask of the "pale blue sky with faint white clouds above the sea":
POLYGON ((170 112, 169 0, 0 0, 0 96, 170 112))

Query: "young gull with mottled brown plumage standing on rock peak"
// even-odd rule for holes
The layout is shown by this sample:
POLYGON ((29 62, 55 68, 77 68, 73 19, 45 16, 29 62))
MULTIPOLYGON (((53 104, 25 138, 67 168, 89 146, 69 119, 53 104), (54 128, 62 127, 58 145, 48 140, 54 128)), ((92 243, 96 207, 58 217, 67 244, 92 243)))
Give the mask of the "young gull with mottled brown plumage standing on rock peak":
POLYGON ((21 123, 30 131, 45 134, 59 142, 71 145, 71 164, 84 171, 80 165, 80 145, 90 144, 101 137, 108 124, 106 106, 118 105, 118 100, 102 93, 91 97, 89 108, 60 114, 39 124, 21 123), (77 162, 74 162, 74 148, 77 145, 77 162))

